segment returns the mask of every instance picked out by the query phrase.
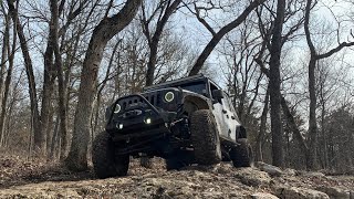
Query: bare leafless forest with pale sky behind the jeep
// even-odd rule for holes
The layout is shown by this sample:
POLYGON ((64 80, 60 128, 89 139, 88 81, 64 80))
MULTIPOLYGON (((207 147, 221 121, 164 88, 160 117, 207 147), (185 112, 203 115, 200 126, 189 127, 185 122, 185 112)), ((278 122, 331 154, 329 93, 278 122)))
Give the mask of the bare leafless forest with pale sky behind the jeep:
POLYGON ((354 170, 352 0, 0 0, 0 151, 87 169, 107 105, 204 73, 257 160, 354 170))

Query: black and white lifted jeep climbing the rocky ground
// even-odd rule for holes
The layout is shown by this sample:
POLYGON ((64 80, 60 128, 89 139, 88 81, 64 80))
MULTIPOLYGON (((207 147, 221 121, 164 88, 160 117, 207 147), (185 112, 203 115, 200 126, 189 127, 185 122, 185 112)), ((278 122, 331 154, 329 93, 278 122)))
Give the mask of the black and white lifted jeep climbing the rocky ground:
POLYGON ((98 178, 125 176, 131 157, 162 157, 167 169, 232 160, 251 164, 251 148, 229 96, 204 75, 145 87, 106 109, 92 160, 98 178))

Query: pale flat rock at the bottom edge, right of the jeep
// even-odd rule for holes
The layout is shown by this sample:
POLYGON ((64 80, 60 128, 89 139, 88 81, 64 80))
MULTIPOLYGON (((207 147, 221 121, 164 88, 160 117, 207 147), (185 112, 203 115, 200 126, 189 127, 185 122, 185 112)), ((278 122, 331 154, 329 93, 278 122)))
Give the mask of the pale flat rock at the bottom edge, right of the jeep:
POLYGON ((298 187, 279 187, 275 192, 282 199, 330 199, 324 192, 298 187))

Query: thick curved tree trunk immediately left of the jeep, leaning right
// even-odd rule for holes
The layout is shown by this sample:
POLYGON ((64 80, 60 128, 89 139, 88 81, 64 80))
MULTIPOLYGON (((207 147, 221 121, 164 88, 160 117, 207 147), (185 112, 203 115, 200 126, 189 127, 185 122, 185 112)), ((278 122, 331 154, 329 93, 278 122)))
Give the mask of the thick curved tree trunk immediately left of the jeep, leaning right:
POLYGON ((104 48, 115 34, 133 20, 140 3, 142 0, 127 1, 117 14, 114 14, 112 18, 104 18, 93 30, 81 74, 72 145, 65 159, 65 164, 71 170, 80 171, 87 169, 91 112, 104 48))

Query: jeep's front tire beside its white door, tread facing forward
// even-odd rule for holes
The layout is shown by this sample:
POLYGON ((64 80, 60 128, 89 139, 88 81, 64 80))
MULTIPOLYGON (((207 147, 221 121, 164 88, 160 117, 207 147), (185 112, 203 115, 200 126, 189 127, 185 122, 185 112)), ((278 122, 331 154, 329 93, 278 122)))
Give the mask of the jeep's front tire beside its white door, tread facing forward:
POLYGON ((219 132, 211 111, 198 109, 191 114, 190 133, 197 164, 215 165, 221 161, 219 132))

